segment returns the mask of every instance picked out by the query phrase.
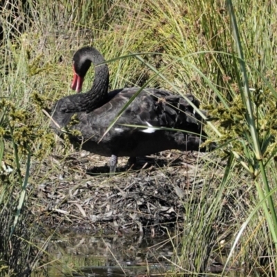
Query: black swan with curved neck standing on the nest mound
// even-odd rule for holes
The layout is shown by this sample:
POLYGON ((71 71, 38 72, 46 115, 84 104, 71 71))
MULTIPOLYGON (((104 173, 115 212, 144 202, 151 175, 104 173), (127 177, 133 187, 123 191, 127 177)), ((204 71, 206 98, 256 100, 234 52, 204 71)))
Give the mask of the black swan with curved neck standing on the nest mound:
MULTIPOLYGON (((81 91, 91 63, 95 66, 91 89, 86 93, 66 96, 53 107, 51 126, 57 134, 62 136, 60 128, 64 127, 78 130, 78 134, 69 136, 71 143, 78 143, 89 152, 111 157, 111 173, 116 170, 117 157, 132 159, 170 149, 206 150, 199 149, 199 145, 206 140, 201 117, 184 98, 161 89, 143 89, 105 134, 112 120, 139 88, 116 89, 108 93, 109 69, 104 57, 96 48, 84 47, 73 56, 71 88, 75 91, 81 91), (74 124, 71 122, 73 115, 76 115, 74 124)), ((199 101, 194 96, 186 97, 199 107, 199 101)))

